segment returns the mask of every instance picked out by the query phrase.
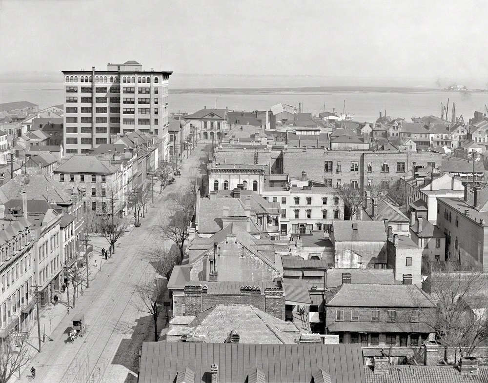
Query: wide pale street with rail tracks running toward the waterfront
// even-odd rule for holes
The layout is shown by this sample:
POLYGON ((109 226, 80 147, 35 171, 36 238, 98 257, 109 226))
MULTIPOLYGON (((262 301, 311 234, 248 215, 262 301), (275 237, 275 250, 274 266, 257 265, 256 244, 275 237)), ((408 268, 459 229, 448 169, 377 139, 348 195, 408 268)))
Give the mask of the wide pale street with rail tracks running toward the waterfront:
MULTIPOLYGON (((108 248, 108 242, 100 236, 90 236, 94 253, 90 267, 98 270, 90 278, 90 287, 83 289, 76 301, 76 307, 66 314, 66 294, 62 294, 60 304, 48 307, 48 315, 41 318, 42 327, 49 332, 42 343, 42 352, 37 349, 33 360, 21 372, 21 379, 12 381, 27 382, 31 366, 36 368, 36 381, 49 383, 129 383, 137 381, 138 352, 142 341, 154 341, 152 317, 140 312, 136 307, 138 296, 136 286, 153 281, 156 277, 150 264, 150 254, 157 244, 162 243, 159 236, 158 220, 168 205, 168 193, 182 190, 194 180, 201 177, 202 158, 208 155, 203 151, 204 145, 195 148, 188 159, 183 160, 181 178, 176 177, 172 185, 159 194, 159 185, 154 186, 154 204, 149 206, 141 227, 131 227, 117 242, 113 257, 105 261, 101 257, 101 248, 108 248), (63 314, 64 313, 64 314, 63 314), (67 342, 72 317, 84 314, 87 331, 73 343, 67 342), (54 324, 56 323, 56 324, 54 324)), ((199 181, 200 183, 200 181, 199 181)), ((169 247, 171 243, 164 242, 169 247)), ((71 290, 71 285, 70 285, 71 290)), ((70 298, 71 302, 71 298, 70 298)), ((72 303, 72 302, 71 302, 72 303)), ((164 314, 159 318, 161 331, 166 320, 164 314)), ((31 335, 29 343, 37 347, 37 330, 31 335)))

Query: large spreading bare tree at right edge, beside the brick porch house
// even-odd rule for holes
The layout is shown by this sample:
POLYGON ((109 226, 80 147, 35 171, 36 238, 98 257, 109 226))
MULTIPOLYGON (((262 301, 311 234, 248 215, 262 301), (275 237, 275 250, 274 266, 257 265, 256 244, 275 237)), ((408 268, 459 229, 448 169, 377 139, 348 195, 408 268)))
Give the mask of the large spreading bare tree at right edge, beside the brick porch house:
POLYGON ((459 271, 450 262, 436 262, 431 270, 423 289, 438 310, 435 315, 424 313, 427 323, 445 347, 446 358, 448 348, 469 356, 488 342, 488 275, 459 271))

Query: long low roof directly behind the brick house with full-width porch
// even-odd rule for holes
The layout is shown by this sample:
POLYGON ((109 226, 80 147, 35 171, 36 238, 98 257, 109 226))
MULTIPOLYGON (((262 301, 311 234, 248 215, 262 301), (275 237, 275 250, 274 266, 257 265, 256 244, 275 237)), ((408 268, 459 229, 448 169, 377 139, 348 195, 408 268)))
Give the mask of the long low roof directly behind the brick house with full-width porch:
POLYGON ((341 285, 343 274, 351 274, 351 283, 394 283, 393 269, 331 268, 327 270, 327 287, 337 287, 341 285))

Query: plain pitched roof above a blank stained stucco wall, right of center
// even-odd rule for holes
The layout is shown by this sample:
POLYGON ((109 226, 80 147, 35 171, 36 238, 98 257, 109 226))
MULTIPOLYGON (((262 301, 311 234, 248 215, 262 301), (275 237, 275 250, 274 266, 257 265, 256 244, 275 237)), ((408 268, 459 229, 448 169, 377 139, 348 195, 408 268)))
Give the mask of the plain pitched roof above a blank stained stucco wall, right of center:
POLYGON ((334 240, 338 242, 386 241, 385 223, 383 221, 334 221, 332 229, 334 240), (357 229, 353 227, 357 227, 357 229))

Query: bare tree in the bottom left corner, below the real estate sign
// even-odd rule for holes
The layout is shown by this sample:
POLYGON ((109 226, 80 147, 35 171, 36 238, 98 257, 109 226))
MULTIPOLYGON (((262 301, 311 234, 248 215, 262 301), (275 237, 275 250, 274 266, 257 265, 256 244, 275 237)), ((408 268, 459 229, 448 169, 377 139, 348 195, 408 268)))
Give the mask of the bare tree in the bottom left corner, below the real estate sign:
POLYGON ((31 359, 32 348, 29 344, 24 341, 17 341, 7 335, 0 342, 0 383, 7 383, 31 359), (17 346, 18 344, 20 344, 20 347, 17 346))

